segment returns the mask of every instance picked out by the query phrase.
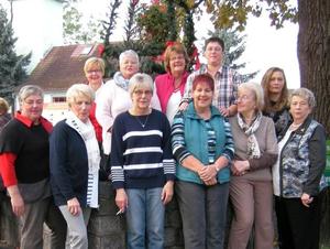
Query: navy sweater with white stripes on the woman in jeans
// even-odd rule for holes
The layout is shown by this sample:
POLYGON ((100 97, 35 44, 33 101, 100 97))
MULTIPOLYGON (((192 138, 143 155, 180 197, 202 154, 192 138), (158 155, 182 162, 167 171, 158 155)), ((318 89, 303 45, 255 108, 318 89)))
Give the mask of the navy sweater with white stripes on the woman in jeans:
POLYGON ((170 128, 165 115, 119 115, 111 141, 111 178, 114 188, 162 187, 175 178, 170 128))

